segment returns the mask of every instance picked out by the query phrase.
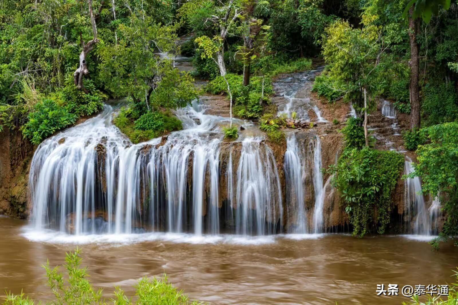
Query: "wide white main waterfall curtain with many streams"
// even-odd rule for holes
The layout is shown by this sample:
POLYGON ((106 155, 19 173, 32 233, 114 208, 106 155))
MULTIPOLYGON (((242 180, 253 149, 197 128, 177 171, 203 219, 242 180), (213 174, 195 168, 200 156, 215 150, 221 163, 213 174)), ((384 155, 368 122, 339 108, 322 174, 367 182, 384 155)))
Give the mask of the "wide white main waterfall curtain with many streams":
MULTIPOLYGON (((35 228, 74 235, 218 234, 227 229, 220 214, 227 214, 240 234, 280 231, 280 181, 273 151, 261 138, 242 141, 236 177, 223 186, 231 213, 221 213, 219 125, 229 118, 204 110, 196 102, 177 110, 184 130, 141 144, 132 145, 112 125, 110 106, 46 139, 29 177, 35 228)), ((232 158, 231 150, 228 176, 233 176, 232 158)))

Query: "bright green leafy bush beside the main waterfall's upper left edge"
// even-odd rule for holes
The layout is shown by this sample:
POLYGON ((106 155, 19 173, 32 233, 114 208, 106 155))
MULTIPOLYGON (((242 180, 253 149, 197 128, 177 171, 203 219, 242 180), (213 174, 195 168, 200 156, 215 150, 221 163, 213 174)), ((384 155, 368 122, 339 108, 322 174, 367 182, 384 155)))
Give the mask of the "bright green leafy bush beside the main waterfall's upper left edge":
POLYGON ((46 137, 76 122, 77 116, 70 110, 69 106, 60 107, 54 100, 44 99, 28 114, 22 134, 38 145, 46 137))

